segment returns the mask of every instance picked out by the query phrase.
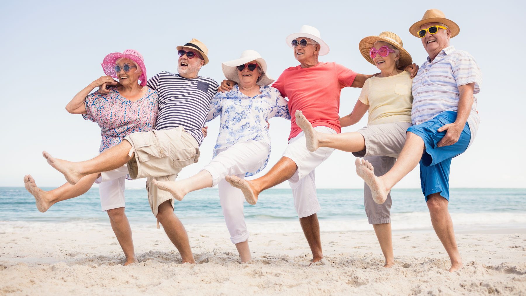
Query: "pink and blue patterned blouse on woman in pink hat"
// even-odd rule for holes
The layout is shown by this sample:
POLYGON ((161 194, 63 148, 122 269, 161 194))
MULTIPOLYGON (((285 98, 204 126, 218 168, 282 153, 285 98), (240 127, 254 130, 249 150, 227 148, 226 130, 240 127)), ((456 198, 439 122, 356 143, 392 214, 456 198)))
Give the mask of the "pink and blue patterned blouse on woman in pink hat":
POLYGON ((100 127, 99 152, 120 143, 132 132, 149 131, 155 128, 159 104, 157 91, 146 88, 143 97, 130 101, 119 94, 117 87, 109 88, 109 94, 94 91, 86 99, 86 120, 97 123, 100 127))

